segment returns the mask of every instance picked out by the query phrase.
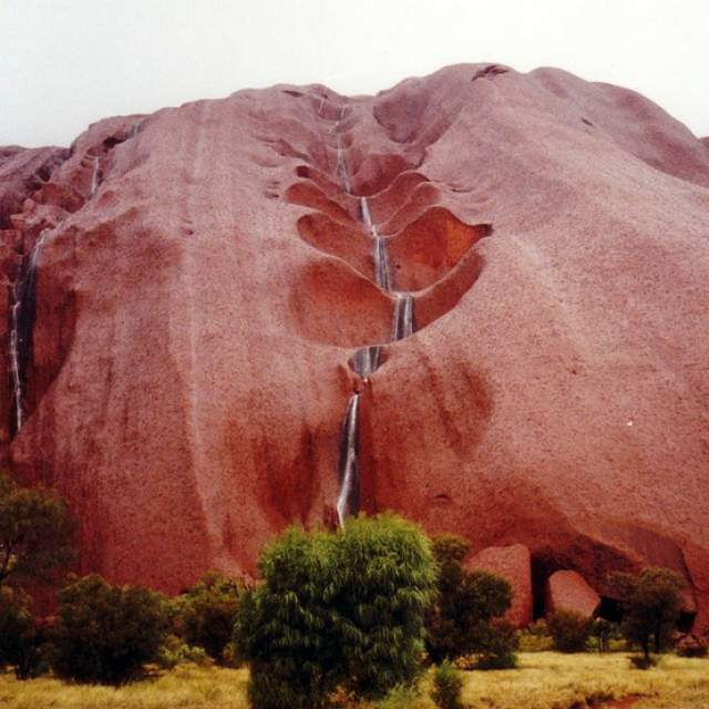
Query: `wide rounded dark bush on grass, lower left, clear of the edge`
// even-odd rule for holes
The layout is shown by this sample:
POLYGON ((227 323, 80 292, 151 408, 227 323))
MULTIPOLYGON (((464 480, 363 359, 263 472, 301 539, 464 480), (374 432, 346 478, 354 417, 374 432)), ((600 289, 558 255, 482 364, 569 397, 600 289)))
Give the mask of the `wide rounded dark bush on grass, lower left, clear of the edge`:
POLYGON ((60 592, 52 669, 82 682, 122 685, 156 661, 167 630, 167 604, 140 586, 80 578, 60 592))

